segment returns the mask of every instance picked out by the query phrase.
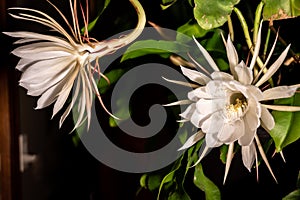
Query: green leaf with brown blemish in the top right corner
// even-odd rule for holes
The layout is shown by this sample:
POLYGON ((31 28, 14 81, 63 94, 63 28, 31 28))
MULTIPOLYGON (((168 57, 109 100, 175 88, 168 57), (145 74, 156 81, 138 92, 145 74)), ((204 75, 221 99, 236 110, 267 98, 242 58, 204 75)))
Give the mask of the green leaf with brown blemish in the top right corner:
POLYGON ((264 20, 281 20, 300 16, 299 0, 264 0, 264 20))

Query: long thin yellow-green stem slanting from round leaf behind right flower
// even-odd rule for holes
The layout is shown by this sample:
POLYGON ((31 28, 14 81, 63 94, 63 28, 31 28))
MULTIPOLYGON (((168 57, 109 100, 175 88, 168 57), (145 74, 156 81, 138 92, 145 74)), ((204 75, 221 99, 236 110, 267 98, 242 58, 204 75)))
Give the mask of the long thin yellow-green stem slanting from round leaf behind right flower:
MULTIPOLYGON (((250 38, 247 22, 246 22, 246 20, 243 16, 243 14, 241 13, 241 11, 238 8, 234 7, 233 10, 234 10, 236 15, 238 16, 238 19, 241 22, 241 25, 242 25, 242 28, 243 28, 243 31, 244 31, 244 35, 245 35, 245 39, 246 39, 246 43, 248 45, 248 48, 250 49, 251 54, 253 55, 253 53, 254 53, 253 43, 252 43, 251 38, 250 38)), ((262 60, 259 57, 257 57, 256 63, 258 64, 258 66, 260 68, 264 67, 264 63, 262 62, 262 60)), ((263 72, 266 73, 267 69, 264 69, 263 72)), ((269 79, 269 83, 270 83, 271 86, 274 85, 273 80, 271 78, 269 79)))

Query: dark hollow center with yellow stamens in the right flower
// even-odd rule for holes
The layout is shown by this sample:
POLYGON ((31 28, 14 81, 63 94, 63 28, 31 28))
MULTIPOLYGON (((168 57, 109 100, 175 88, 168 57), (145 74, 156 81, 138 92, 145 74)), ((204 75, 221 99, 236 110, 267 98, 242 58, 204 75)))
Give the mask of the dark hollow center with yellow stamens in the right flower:
POLYGON ((229 122, 234 122, 244 116, 248 102, 242 93, 233 93, 229 98, 229 105, 225 107, 225 116, 229 122))

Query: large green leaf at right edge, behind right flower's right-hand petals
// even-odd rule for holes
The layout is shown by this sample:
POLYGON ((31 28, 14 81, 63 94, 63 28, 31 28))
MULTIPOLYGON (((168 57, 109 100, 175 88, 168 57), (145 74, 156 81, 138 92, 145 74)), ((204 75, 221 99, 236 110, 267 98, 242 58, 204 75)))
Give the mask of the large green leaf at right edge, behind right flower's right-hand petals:
MULTIPOLYGON (((279 99, 278 105, 300 106, 300 94, 295 93, 291 98, 279 99)), ((300 138, 300 112, 273 111, 275 127, 270 131, 276 151, 281 151, 287 145, 300 138)))

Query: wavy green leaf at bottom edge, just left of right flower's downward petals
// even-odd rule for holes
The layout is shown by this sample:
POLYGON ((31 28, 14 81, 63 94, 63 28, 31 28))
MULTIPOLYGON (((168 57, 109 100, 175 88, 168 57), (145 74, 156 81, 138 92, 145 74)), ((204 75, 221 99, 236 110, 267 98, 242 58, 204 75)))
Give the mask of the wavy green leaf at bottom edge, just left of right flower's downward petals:
POLYGON ((220 190, 204 175, 201 163, 195 167, 194 184, 205 193, 206 200, 221 199, 220 190))

